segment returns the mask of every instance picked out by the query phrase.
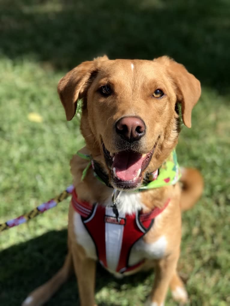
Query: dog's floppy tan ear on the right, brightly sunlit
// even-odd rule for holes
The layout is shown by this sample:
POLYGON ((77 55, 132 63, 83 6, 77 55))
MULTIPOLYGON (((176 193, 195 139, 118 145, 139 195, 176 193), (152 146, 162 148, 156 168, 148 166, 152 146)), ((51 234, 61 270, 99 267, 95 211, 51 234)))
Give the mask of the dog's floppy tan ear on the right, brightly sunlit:
POLYGON ((175 85, 177 102, 181 103, 182 119, 184 124, 191 127, 192 109, 196 105, 201 95, 201 84, 195 76, 189 73, 186 68, 168 58, 162 56, 155 59, 167 65, 172 81, 175 85))

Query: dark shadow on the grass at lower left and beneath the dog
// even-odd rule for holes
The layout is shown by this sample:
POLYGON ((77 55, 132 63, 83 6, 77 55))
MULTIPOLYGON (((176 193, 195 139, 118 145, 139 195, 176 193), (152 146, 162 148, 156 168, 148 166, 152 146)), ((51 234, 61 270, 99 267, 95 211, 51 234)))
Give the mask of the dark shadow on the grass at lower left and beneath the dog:
MULTIPOLYGON (((63 264, 67 253, 66 241, 67 230, 51 231, 0 252, 1 305, 20 305, 28 293, 48 281, 63 264)), ((136 287, 140 282, 143 283, 148 274, 139 273, 126 277, 125 281, 117 280, 98 265, 96 292, 103 287, 120 290, 125 282, 130 287, 136 287)), ((79 305, 74 275, 52 297, 48 305, 79 305)), ((112 304, 98 306, 112 306, 112 304)))

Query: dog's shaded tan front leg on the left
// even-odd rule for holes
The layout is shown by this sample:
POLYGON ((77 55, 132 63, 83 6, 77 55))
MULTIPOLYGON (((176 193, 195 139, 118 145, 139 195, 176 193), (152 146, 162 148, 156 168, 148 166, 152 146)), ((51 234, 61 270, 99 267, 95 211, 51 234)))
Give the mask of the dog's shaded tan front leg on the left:
POLYGON ((72 252, 81 306, 96 306, 94 300, 96 261, 86 257, 84 249, 79 244, 72 246, 72 252))

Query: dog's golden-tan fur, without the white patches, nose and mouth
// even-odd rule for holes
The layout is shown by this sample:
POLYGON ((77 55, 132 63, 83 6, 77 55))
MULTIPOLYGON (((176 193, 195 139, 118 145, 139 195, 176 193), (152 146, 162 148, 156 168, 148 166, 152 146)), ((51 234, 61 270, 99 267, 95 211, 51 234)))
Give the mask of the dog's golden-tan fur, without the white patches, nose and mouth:
MULTIPOLYGON (((154 61, 144 60, 108 60, 96 58, 83 62, 64 76, 58 84, 58 92, 66 111, 67 120, 71 120, 76 111, 76 103, 83 99, 81 131, 86 140, 82 153, 90 154, 98 161, 111 180, 111 170, 105 163, 102 154, 102 141, 110 152, 117 152, 117 135, 115 122, 123 116, 139 116, 146 124, 146 134, 141 138, 138 152, 150 152, 154 145, 155 152, 146 169, 152 172, 167 159, 178 141, 178 114, 176 102, 182 104, 184 124, 191 126, 191 111, 199 99, 201 89, 199 81, 184 66, 167 57, 154 61), (132 64, 132 65, 131 65, 132 64), (131 69, 132 67, 132 69, 131 69), (109 84, 114 94, 103 97, 98 92, 100 86, 109 84), (161 99, 152 97, 160 88, 166 94, 161 99)), ((89 169, 84 181, 82 171, 88 161, 74 155, 71 160, 73 184, 81 200, 89 203, 104 203, 111 196, 112 189, 95 180, 93 170, 89 169)), ((144 176, 144 174, 143 174, 144 176)), ((163 258, 146 260, 144 267, 155 266, 155 282, 147 305, 151 302, 161 305, 166 297, 168 286, 174 292, 177 287, 183 288, 176 267, 181 241, 181 210, 186 210, 201 195, 203 181, 197 170, 184 169, 181 179, 183 187, 174 186, 150 189, 141 193, 141 202, 145 211, 154 207, 163 207, 171 199, 167 209, 157 219, 154 228, 144 236, 146 244, 152 244, 162 235, 167 240, 163 258)), ((111 184, 114 185, 113 181, 111 184)), ((115 187, 115 186, 114 186, 115 187)), ((60 271, 46 284, 33 291, 29 306, 44 304, 56 292, 60 285, 71 274, 74 264, 78 279, 81 306, 94 306, 95 261, 86 256, 78 237, 74 232, 73 208, 69 209, 68 225, 69 253, 60 271)), ((185 302, 186 297, 178 297, 185 302)))

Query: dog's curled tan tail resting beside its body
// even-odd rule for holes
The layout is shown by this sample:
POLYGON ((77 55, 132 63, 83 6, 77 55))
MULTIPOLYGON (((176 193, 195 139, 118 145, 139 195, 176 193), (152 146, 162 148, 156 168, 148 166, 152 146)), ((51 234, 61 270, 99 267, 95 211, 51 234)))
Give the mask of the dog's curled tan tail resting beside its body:
POLYGON ((204 189, 204 181, 200 172, 193 168, 181 168, 182 193, 180 207, 186 211, 194 206, 204 189))

